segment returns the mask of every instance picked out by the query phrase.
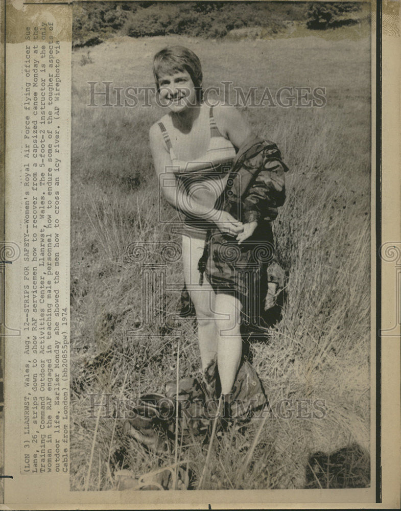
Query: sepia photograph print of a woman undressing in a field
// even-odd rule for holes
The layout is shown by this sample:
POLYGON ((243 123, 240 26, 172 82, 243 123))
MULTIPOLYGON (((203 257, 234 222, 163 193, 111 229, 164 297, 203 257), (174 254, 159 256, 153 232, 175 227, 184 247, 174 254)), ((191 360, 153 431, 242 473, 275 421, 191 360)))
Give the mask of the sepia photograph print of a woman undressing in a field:
POLYGON ((364 2, 74 4, 71 491, 374 485, 371 59, 364 2))

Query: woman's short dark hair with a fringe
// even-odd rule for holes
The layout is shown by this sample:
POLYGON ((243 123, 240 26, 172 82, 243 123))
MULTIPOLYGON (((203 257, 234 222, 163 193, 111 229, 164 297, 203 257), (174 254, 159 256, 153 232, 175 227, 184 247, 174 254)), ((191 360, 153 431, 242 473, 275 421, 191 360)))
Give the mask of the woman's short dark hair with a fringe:
POLYGON ((187 71, 196 89, 197 101, 203 99, 202 66, 199 57, 184 46, 169 46, 160 50, 153 59, 153 76, 157 92, 160 91, 159 76, 187 71))

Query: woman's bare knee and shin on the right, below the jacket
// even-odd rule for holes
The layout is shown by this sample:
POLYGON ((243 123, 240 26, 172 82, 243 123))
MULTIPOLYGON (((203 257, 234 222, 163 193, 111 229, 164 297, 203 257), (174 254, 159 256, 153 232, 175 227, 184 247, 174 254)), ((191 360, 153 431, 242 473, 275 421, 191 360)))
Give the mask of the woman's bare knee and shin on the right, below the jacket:
POLYGON ((241 361, 241 307, 240 300, 234 296, 220 293, 216 295, 217 361, 222 394, 231 392, 241 361))

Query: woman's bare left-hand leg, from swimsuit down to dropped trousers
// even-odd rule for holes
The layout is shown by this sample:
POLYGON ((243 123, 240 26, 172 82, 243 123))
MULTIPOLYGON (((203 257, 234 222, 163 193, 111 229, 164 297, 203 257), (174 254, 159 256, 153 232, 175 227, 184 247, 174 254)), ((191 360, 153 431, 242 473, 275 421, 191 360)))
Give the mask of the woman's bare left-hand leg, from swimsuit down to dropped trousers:
POLYGON ((198 261, 203 254, 204 246, 204 238, 186 234, 182 236, 184 280, 198 320, 198 341, 203 370, 217 355, 217 329, 213 312, 216 293, 206 278, 203 279, 202 286, 199 285, 198 261))

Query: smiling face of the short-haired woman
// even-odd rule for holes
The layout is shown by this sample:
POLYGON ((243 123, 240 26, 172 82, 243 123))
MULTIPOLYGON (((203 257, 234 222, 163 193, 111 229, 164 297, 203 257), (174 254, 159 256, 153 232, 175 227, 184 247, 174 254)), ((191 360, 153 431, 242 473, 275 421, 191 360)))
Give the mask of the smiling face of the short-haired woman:
POLYGON ((196 89, 187 71, 159 76, 160 104, 172 112, 181 112, 197 104, 196 89))

